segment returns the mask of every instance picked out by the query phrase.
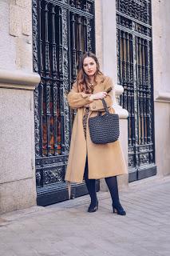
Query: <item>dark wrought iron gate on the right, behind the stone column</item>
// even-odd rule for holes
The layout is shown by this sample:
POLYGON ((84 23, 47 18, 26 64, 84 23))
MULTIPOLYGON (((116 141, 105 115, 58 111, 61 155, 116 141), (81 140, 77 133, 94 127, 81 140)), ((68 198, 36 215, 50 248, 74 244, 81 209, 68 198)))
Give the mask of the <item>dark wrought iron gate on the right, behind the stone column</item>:
POLYGON ((151 0, 117 0, 118 83, 128 110, 129 181, 156 174, 151 0))

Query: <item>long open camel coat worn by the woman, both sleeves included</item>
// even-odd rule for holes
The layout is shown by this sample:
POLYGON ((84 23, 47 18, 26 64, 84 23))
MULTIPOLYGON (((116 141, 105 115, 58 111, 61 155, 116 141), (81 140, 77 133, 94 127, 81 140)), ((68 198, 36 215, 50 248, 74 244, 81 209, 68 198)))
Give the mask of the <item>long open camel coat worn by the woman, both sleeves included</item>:
MULTIPOLYGON (((113 87, 111 78, 102 75, 97 76, 97 85, 94 86, 93 94, 106 91, 113 87)), ((83 115, 85 106, 89 104, 89 116, 94 117, 98 111, 103 111, 103 104, 100 99, 89 100, 89 94, 78 92, 77 83, 73 84, 72 90, 68 94, 69 106, 77 109, 73 122, 72 138, 69 150, 69 161, 65 174, 65 181, 82 182, 85 171, 85 160, 88 157, 89 178, 105 178, 120 174, 126 174, 125 159, 119 141, 108 144, 94 144, 89 135, 87 121, 87 134, 83 130, 83 115)), ((105 101, 109 107, 109 112, 113 110, 113 90, 106 96, 105 101)), ((89 117, 88 117, 89 118, 89 117)))

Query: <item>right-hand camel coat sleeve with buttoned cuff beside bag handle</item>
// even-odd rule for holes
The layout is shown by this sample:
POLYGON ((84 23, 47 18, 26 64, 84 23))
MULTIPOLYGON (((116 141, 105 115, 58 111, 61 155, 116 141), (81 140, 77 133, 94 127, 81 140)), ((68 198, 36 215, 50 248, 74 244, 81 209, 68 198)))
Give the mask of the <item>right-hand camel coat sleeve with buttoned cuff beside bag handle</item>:
MULTIPOLYGON (((106 91, 107 89, 109 89, 109 87, 113 88, 113 82, 111 78, 106 78, 106 82, 105 82, 105 87, 104 90, 106 91)), ((105 102, 107 104, 108 107, 113 106, 113 90, 111 90, 109 92, 109 94, 105 97, 105 102)), ((89 104, 89 108, 92 111, 103 111, 104 110, 104 106, 103 103, 101 101, 101 99, 97 99, 97 100, 93 100, 93 102, 91 102, 89 104)))

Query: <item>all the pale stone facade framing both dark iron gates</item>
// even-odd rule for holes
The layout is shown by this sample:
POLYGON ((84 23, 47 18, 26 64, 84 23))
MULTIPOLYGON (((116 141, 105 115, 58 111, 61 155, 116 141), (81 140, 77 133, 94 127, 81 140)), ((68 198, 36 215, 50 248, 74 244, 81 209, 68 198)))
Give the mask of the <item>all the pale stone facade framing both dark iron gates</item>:
MULTIPOLYGON (((155 142, 159 175, 170 174, 169 8, 168 0, 152 3, 155 142)), ((128 166, 128 113, 117 104, 123 88, 117 86, 116 0, 96 0, 95 13, 97 57, 101 70, 113 78, 115 84, 114 108, 121 118, 121 143, 128 166)), ((40 78, 32 73, 32 1, 0 1, 0 20, 0 213, 3 213, 36 204, 34 86, 40 78)), ((128 186, 128 175, 120 178, 119 184, 128 186)), ((101 187, 105 190, 104 183, 101 187)))

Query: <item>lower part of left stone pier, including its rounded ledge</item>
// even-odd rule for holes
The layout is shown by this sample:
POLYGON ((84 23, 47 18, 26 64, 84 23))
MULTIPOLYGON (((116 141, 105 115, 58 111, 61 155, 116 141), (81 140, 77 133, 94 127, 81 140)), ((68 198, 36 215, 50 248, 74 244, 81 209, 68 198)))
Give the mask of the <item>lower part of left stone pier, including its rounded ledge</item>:
POLYGON ((0 70, 0 213, 36 205, 36 74, 0 70))

